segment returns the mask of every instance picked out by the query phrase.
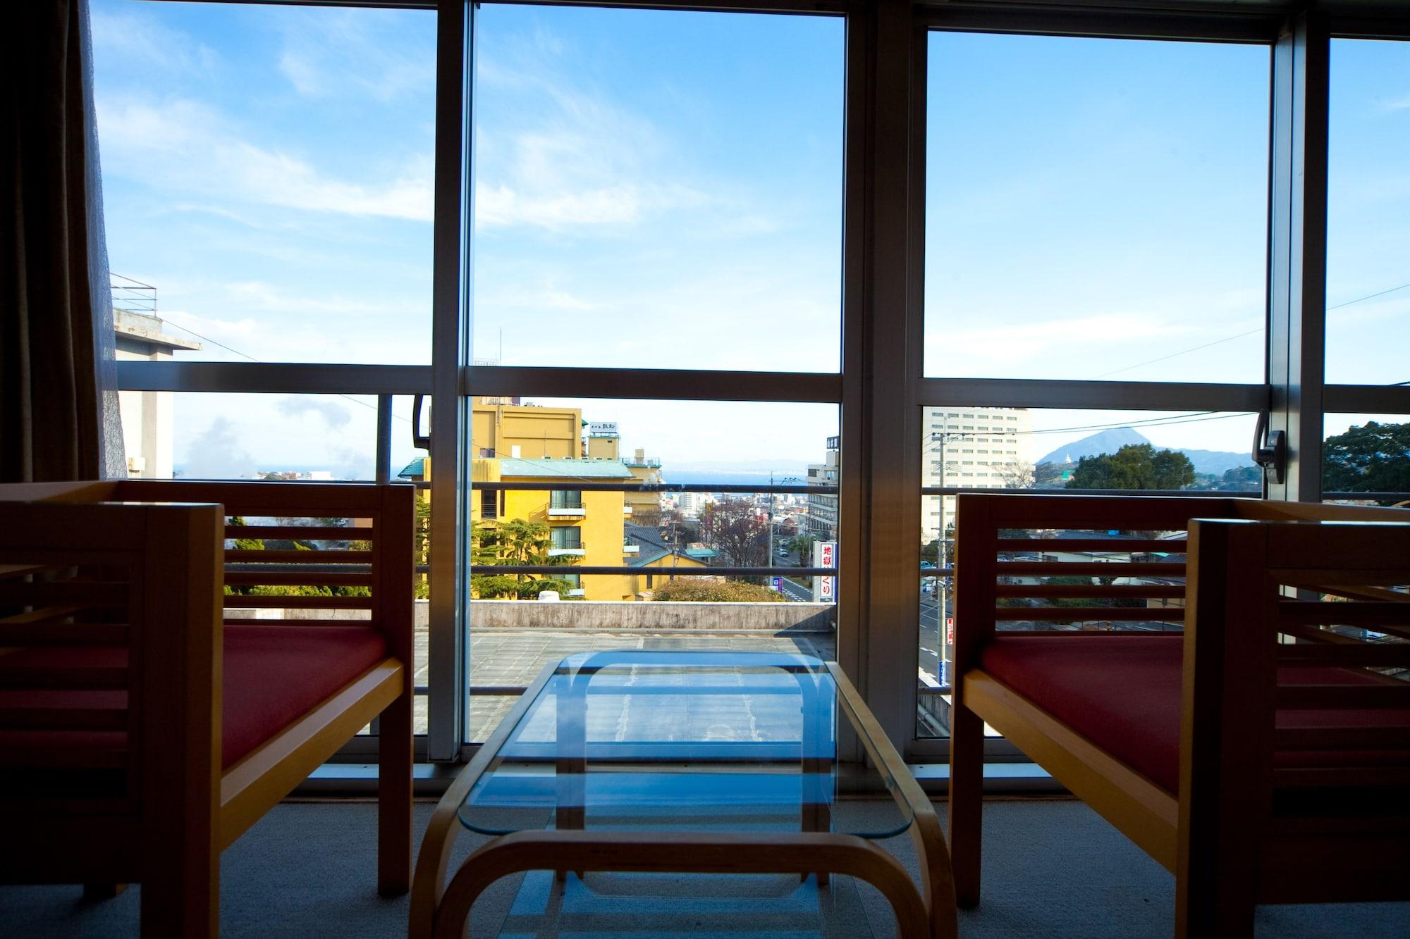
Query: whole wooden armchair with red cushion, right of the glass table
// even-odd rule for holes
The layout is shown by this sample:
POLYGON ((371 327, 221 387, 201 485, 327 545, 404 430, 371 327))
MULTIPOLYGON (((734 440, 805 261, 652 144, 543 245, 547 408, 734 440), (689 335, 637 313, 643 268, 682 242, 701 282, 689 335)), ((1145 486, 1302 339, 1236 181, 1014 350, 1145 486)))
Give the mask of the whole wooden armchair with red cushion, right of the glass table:
POLYGON ((1407 516, 959 496, 959 904, 984 723, 1176 874, 1179 936, 1251 935, 1261 902, 1410 898, 1407 516))

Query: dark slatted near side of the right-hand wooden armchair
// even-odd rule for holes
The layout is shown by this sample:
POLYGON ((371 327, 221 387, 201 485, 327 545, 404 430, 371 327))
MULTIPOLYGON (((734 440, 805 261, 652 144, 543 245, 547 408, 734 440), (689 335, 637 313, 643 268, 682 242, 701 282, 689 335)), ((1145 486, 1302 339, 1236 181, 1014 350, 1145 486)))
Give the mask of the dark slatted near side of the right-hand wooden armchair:
POLYGON ((1177 915, 1410 900, 1410 523, 1191 522, 1177 915))

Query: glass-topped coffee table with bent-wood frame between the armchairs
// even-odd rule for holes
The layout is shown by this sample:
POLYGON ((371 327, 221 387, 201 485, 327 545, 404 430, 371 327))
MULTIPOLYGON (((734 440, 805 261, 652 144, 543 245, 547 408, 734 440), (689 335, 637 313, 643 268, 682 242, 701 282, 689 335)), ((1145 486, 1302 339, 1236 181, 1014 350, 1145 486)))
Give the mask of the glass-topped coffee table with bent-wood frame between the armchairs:
POLYGON ((935 811, 836 663, 598 651, 547 665, 441 798, 412 936, 465 935, 475 898, 532 870, 847 874, 904 936, 953 936, 935 811), (888 799, 864 797, 885 794, 888 799), (491 840, 446 881, 461 828, 491 840), (874 843, 909 832, 921 884, 874 843))

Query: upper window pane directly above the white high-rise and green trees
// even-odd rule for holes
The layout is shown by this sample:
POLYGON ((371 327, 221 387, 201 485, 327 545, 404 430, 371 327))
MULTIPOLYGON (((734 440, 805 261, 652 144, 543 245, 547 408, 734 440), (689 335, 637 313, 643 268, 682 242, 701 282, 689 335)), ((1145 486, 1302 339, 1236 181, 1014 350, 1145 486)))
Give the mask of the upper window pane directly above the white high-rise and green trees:
POLYGON ((932 32, 928 65, 926 375, 1262 381, 1268 47, 932 32))

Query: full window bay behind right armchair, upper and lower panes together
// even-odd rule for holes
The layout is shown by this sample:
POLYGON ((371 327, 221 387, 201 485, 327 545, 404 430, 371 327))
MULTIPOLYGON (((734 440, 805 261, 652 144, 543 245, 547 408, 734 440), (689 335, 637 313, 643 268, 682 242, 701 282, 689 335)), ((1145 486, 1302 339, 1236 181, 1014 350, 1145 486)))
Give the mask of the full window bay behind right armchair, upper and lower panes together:
MULTIPOLYGON (((925 61, 919 737, 949 732, 956 493, 1262 495, 1270 117, 1266 44, 935 31, 925 61)), ((1112 616, 1048 626, 1151 626, 1112 616)))

